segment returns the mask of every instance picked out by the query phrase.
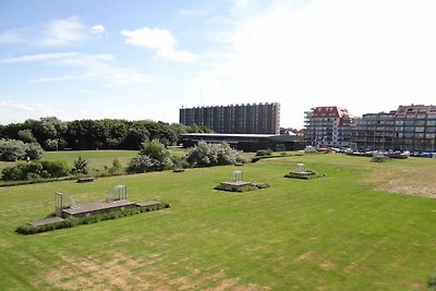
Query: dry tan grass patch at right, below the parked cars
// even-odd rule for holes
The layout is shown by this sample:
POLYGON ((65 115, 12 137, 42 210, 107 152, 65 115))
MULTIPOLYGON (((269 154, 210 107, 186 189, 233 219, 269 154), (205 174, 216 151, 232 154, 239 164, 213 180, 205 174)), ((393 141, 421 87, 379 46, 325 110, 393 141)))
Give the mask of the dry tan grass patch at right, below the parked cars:
POLYGON ((361 180, 374 190, 436 198, 436 165, 389 167, 371 171, 361 180))

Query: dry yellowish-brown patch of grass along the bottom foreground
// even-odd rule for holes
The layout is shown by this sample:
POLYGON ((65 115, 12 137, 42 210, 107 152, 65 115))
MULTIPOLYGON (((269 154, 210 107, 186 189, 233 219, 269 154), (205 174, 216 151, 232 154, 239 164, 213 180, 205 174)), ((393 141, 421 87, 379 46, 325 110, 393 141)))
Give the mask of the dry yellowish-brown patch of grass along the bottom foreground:
POLYGON ((45 280, 53 288, 65 290, 195 290, 204 289, 202 286, 210 286, 210 282, 215 287, 208 290, 265 290, 228 278, 223 270, 201 276, 201 270, 193 269, 189 275, 178 276, 179 269, 174 266, 184 264, 179 262, 171 268, 159 269, 156 262, 160 259, 159 254, 152 254, 146 259, 121 253, 113 254, 110 259, 59 254, 58 266, 47 274, 45 280))

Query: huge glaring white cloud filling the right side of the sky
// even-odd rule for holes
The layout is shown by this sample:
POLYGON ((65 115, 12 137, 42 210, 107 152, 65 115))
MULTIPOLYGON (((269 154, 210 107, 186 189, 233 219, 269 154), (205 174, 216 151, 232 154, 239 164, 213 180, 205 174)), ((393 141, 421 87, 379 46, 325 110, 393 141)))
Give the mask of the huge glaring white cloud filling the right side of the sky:
POLYGON ((314 106, 362 114, 434 102, 436 2, 275 1, 264 11, 237 25, 231 52, 198 72, 223 84, 208 90, 210 102, 280 101, 287 126, 303 126, 314 106))

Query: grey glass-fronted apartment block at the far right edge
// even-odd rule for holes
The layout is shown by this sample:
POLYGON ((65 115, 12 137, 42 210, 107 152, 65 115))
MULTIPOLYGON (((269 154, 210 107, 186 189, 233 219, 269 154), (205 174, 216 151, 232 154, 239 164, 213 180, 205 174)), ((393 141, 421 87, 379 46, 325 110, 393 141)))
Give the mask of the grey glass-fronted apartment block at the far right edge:
POLYGON ((364 114, 355 121, 351 140, 356 149, 436 151, 436 106, 364 114))

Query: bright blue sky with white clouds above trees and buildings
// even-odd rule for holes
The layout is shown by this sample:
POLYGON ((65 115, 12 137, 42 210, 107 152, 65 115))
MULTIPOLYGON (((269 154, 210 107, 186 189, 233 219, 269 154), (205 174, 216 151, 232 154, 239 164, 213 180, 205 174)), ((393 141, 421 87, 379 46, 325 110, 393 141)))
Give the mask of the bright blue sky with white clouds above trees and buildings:
POLYGON ((436 104, 434 0, 0 0, 0 123, 436 104))

